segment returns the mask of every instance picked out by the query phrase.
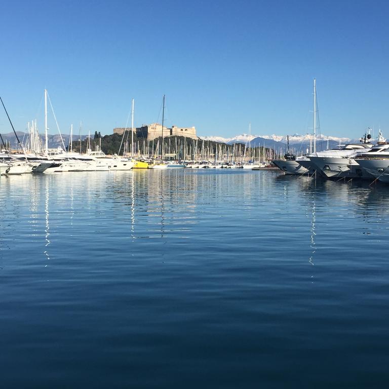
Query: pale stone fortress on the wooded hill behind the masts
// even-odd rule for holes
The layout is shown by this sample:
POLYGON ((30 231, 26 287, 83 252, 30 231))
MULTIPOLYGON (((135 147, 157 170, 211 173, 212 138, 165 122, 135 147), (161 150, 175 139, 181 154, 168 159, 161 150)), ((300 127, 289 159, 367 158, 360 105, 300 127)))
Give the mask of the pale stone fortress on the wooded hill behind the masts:
MULTIPOLYGON (((114 128, 113 133, 123 135, 125 128, 114 128)), ((127 128, 131 131, 131 128, 127 128)), ((155 138, 162 137, 162 125, 158 123, 144 124, 142 127, 134 128, 137 138, 151 141, 155 138)), ((198 139, 195 127, 177 127, 167 128, 164 126, 164 137, 167 136, 185 136, 187 138, 198 139)))

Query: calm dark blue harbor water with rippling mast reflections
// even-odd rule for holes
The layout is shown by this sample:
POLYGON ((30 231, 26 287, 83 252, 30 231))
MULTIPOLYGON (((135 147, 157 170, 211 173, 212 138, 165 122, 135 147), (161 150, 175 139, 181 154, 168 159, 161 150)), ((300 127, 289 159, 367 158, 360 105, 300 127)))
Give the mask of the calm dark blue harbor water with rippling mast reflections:
POLYGON ((382 387, 389 186, 0 178, 2 387, 382 387))

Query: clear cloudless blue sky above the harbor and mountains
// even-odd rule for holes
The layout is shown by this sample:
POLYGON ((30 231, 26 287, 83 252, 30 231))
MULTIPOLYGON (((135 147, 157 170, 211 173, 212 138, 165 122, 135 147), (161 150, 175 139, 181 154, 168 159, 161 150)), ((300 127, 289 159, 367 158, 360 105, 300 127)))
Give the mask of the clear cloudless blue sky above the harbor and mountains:
POLYGON ((304 134, 316 77, 323 134, 389 138, 388 15, 358 0, 3 2, 0 95, 20 131, 44 131, 47 88, 63 133, 124 127, 132 98, 135 126, 161 122, 166 94, 166 124, 198 135, 304 134))

